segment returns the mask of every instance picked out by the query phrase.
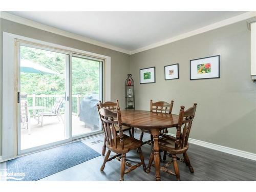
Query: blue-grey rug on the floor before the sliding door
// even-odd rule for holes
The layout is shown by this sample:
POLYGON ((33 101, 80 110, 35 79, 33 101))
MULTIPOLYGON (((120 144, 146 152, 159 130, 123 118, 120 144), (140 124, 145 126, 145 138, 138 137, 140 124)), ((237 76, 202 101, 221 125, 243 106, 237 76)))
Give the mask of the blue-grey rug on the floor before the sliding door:
POLYGON ((81 141, 7 161, 7 181, 37 181, 100 156, 81 141))

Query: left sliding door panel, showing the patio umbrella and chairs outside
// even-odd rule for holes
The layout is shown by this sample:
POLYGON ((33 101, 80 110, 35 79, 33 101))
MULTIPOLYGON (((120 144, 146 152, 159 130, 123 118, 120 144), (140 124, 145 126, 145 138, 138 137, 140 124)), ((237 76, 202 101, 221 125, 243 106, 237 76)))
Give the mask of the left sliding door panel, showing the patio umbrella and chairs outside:
POLYGON ((19 153, 70 139, 69 55, 19 44, 19 153))

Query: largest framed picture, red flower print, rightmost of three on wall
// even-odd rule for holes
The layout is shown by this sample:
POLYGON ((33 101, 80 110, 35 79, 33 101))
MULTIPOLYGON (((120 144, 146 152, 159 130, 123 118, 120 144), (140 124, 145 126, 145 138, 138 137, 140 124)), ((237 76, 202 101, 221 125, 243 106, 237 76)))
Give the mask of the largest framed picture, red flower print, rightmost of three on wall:
POLYGON ((220 78, 220 55, 190 60, 190 80, 220 78))

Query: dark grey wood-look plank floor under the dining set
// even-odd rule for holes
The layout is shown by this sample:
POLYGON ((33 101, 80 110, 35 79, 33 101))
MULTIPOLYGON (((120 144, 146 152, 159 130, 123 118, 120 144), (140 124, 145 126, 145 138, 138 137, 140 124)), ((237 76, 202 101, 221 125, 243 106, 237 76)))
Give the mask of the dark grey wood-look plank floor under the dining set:
MULTIPOLYGON (((135 137, 139 138, 140 132, 135 133, 135 137)), ((150 135, 144 134, 143 140, 148 140, 150 135)), ((102 140, 103 135, 82 140, 88 146, 101 154, 103 142, 92 145, 90 142, 102 140)), ((142 152, 144 154, 145 163, 151 153, 150 145, 143 145, 142 152)), ((188 167, 179 162, 180 178, 182 181, 255 181, 256 180, 256 161, 237 157, 234 155, 210 150, 199 145, 190 144, 187 152, 190 162, 194 167, 195 173, 191 174, 188 167)), ((111 153, 111 155, 114 155, 111 153)), ((127 161, 135 164, 139 162, 139 156, 136 151, 131 151, 126 155, 127 161)), ((167 157, 168 160, 169 157, 167 157)), ((116 159, 106 162, 103 172, 100 167, 104 157, 100 156, 74 167, 63 170, 44 179, 42 181, 119 181, 120 178, 120 162, 116 159)), ((173 169, 173 167, 171 166, 173 169)), ((161 172, 162 181, 176 181, 175 176, 161 172)), ((129 174, 124 175, 125 181, 155 181, 155 168, 152 167, 151 173, 143 172, 142 166, 133 170, 129 174)))

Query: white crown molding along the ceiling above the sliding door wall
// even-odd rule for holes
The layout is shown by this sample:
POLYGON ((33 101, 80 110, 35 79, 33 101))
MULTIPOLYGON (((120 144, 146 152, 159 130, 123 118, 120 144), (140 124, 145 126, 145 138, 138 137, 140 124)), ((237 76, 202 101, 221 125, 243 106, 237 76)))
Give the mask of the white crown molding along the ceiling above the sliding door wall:
POLYGON ((16 15, 13 15, 13 14, 10 14, 10 13, 7 13, 7 12, 0 11, 0 18, 10 20, 11 22, 15 22, 15 23, 26 25, 26 26, 30 26, 30 27, 33 27, 33 28, 36 28, 36 29, 40 29, 40 30, 51 32, 51 33, 55 33, 55 34, 58 34, 58 35, 61 35, 61 36, 69 37, 69 38, 80 40, 80 41, 83 41, 83 42, 88 42, 89 44, 93 44, 93 45, 96 45, 96 46, 99 46, 99 47, 111 49, 111 50, 126 53, 126 54, 131 54, 131 51, 129 51, 129 50, 125 50, 125 49, 122 49, 122 48, 119 48, 119 47, 115 47, 115 46, 112 46, 112 45, 109 45, 109 44, 105 44, 104 42, 100 42, 100 41, 97 41, 97 40, 94 40, 94 39, 91 39, 91 38, 84 37, 82 35, 77 35, 75 33, 64 31, 64 30, 61 30, 61 29, 57 29, 55 27, 50 27, 48 25, 44 25, 44 24, 41 24, 41 23, 38 23, 38 22, 34 22, 33 20, 29 20, 29 19, 26 19, 26 18, 23 18, 23 17, 19 17, 19 16, 16 16, 16 15))

